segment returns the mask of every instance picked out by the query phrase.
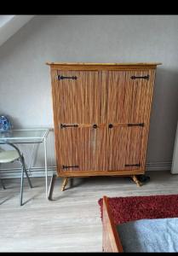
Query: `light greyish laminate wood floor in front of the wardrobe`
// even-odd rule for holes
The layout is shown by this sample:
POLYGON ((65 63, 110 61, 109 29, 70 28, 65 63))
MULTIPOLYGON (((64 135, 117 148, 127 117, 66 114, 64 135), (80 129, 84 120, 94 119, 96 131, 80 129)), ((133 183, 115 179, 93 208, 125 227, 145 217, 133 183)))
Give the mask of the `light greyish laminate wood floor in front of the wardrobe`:
POLYGON ((74 178, 61 192, 55 182, 53 201, 45 197, 44 177, 25 183, 20 207, 20 179, 0 187, 0 252, 101 252, 102 226, 98 200, 107 196, 178 194, 178 175, 146 172, 149 183, 140 188, 129 177, 74 178))

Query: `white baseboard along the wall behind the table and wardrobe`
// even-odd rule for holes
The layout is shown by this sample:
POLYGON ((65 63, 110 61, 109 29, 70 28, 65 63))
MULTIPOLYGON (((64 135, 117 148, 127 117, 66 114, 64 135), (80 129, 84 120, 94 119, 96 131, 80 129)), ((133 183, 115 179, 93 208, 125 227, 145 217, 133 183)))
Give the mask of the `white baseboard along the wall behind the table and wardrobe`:
MULTIPOLYGON (((171 170, 171 162, 154 162, 146 163, 146 171, 169 171, 171 170)), ((48 174, 51 176, 56 171, 56 166, 48 167, 48 174)), ((14 169, 0 169, 1 178, 20 177, 20 168, 14 169)), ((45 177, 44 167, 32 167, 29 173, 30 177, 45 177)))

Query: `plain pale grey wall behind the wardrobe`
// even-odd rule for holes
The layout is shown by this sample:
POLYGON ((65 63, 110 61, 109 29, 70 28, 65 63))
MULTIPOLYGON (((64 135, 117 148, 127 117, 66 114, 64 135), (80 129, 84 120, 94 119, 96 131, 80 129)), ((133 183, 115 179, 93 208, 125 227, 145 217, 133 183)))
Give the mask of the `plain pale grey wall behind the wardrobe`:
POLYGON ((0 113, 9 114, 14 127, 53 127, 46 61, 163 62, 146 161, 171 162, 178 113, 178 16, 35 16, 0 47, 0 113))

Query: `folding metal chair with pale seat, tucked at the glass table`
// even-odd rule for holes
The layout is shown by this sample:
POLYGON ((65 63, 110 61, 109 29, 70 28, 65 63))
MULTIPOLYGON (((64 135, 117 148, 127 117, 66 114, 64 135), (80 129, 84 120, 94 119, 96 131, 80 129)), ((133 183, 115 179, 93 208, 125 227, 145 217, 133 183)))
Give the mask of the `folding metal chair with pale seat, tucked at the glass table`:
MULTIPOLYGON (((21 180, 20 180, 20 206, 22 206, 22 195, 23 195, 23 186, 24 186, 24 172, 26 172, 26 165, 23 154, 20 154, 20 149, 14 146, 13 143, 6 143, 7 145, 14 148, 14 150, 4 150, 0 152, 0 164, 14 162, 14 160, 19 160, 21 163, 21 180)), ((26 172, 27 181, 32 188, 32 183, 28 173, 26 172)), ((1 180, 3 189, 5 186, 1 180)))

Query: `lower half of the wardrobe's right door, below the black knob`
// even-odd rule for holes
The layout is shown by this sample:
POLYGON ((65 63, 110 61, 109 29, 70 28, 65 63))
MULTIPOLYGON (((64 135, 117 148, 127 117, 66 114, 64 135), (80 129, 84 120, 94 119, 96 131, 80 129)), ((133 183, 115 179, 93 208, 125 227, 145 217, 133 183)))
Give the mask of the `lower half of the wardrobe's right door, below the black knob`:
POLYGON ((113 125, 108 130, 108 171, 140 170, 142 131, 140 125, 113 125))

